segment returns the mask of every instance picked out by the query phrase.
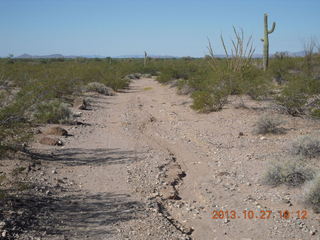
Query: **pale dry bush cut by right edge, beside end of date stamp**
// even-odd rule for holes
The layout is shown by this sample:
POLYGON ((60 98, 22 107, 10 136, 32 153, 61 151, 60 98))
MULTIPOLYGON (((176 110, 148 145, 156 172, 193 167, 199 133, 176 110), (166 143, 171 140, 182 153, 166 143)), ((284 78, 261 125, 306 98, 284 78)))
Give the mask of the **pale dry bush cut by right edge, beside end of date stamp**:
POLYGON ((320 174, 306 186, 304 202, 316 212, 320 212, 320 174))

